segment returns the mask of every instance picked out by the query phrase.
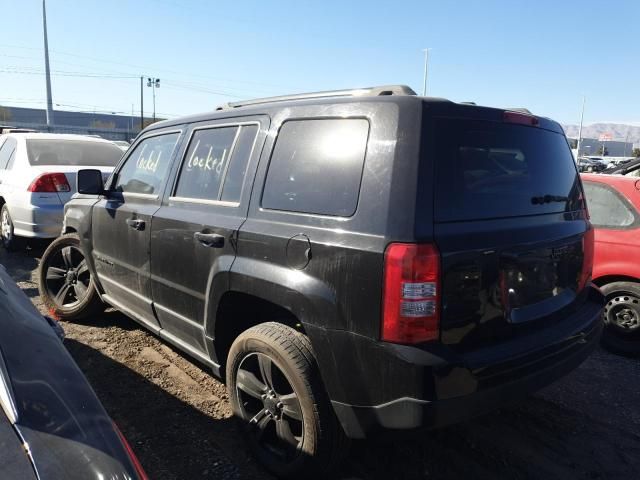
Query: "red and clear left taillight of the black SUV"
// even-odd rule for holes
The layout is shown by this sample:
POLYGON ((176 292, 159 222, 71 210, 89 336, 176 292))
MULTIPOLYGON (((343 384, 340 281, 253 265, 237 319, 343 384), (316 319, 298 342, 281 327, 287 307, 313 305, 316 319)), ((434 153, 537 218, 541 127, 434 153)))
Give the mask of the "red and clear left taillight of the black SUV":
POLYGON ((384 255, 382 340, 437 340, 440 327, 440 254, 434 245, 392 243, 384 255))

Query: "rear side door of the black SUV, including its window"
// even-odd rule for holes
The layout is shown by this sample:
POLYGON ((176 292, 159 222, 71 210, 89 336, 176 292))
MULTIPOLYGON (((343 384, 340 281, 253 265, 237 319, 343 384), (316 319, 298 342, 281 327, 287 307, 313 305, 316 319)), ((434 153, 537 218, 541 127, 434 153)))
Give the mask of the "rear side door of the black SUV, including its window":
POLYGON ((151 289, 162 334, 196 356, 207 357, 208 299, 228 285, 267 128, 265 117, 193 126, 153 216, 151 289))

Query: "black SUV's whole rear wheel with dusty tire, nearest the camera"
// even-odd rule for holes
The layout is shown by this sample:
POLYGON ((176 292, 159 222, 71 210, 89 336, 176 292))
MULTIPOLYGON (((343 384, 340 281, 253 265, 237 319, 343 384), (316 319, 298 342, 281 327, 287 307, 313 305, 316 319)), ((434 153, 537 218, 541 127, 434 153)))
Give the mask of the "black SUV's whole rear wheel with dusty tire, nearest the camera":
POLYGON ((273 322, 246 330, 231 346, 226 378, 249 447, 269 471, 279 478, 331 478, 348 440, 305 335, 273 322))

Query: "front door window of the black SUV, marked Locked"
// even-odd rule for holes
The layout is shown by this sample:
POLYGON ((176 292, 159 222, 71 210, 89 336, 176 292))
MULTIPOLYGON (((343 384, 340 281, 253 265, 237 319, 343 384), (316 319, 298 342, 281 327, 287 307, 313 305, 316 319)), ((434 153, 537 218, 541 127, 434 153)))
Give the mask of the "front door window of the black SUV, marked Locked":
POLYGON ((176 132, 142 140, 118 172, 114 189, 123 193, 159 195, 179 136, 176 132))

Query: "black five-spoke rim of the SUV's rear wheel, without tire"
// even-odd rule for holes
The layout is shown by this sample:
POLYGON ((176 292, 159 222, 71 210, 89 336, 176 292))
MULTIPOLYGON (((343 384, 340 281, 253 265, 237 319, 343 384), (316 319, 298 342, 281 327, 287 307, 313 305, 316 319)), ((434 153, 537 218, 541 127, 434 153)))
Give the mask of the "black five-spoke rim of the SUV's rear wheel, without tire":
POLYGON ((250 353, 238 366, 235 388, 255 445, 280 461, 294 460, 304 440, 304 419, 298 395, 282 369, 269 356, 250 353))

